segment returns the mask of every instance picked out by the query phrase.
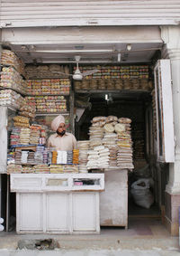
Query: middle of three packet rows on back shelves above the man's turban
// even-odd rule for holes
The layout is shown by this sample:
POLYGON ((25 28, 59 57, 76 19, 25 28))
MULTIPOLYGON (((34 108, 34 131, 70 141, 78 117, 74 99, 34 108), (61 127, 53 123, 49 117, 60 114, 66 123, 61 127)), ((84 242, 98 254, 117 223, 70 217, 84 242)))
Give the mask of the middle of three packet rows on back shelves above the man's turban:
POLYGON ((70 90, 69 79, 50 79, 50 80, 28 80, 28 94, 31 95, 68 95, 70 90))

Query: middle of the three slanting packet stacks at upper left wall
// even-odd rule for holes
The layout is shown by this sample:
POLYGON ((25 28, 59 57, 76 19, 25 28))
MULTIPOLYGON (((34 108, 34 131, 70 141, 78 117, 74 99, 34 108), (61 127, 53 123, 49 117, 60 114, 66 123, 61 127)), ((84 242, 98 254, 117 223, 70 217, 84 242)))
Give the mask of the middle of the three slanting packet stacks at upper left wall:
POLYGON ((13 67, 3 67, 0 85, 4 88, 26 93, 26 81, 23 81, 22 76, 13 67))

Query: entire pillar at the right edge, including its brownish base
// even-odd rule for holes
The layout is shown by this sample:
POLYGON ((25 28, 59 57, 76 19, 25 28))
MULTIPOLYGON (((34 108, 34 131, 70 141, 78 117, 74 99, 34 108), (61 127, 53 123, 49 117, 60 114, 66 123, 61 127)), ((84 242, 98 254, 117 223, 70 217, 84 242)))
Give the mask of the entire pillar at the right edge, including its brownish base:
POLYGON ((161 27, 165 43, 164 58, 171 61, 173 112, 175 128, 175 163, 169 165, 169 181, 166 185, 166 227, 172 235, 178 235, 178 207, 180 206, 180 26, 161 27))

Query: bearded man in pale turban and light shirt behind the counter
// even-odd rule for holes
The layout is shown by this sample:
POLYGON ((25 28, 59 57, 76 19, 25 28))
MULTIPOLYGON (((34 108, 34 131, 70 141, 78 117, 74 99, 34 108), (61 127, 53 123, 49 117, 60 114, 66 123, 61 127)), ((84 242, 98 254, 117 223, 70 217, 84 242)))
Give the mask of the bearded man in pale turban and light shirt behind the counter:
POLYGON ((51 128, 56 133, 49 137, 48 147, 55 147, 57 151, 72 151, 76 148, 76 137, 66 131, 65 119, 62 115, 52 120, 51 128))

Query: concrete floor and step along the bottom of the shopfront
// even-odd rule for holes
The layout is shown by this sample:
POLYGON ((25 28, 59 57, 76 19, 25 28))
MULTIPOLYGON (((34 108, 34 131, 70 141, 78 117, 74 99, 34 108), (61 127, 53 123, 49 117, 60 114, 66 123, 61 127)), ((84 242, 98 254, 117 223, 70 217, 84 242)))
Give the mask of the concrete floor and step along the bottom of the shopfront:
POLYGON ((180 255, 180 251, 178 237, 170 236, 170 234, 166 231, 165 226, 161 223, 161 220, 159 218, 131 217, 129 219, 128 230, 124 230, 123 228, 102 228, 101 234, 99 235, 18 235, 15 232, 0 232, 0 256, 9 255, 174 256, 180 255), (27 250, 15 251, 17 249, 18 241, 20 240, 47 238, 53 238, 57 240, 59 245, 59 249, 57 249, 58 251, 49 251, 49 254, 46 254, 48 251, 43 251, 44 254, 41 254, 42 251, 33 251, 33 253, 35 254, 28 254, 31 251, 27 250), (67 254, 67 251, 69 254, 67 254), (26 252, 27 254, 24 254, 26 252))

